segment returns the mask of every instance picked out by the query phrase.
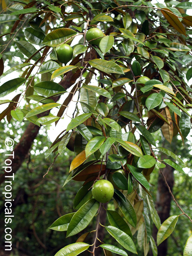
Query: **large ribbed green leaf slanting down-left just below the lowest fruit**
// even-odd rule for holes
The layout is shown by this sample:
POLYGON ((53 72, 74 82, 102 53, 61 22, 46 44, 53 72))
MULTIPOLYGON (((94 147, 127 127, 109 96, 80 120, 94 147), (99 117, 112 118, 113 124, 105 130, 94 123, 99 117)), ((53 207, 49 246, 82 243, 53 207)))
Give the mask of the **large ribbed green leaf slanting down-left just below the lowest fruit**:
POLYGON ((73 215, 67 229, 66 237, 73 236, 86 228, 92 221, 98 209, 99 202, 97 202, 94 198, 82 205, 73 215))

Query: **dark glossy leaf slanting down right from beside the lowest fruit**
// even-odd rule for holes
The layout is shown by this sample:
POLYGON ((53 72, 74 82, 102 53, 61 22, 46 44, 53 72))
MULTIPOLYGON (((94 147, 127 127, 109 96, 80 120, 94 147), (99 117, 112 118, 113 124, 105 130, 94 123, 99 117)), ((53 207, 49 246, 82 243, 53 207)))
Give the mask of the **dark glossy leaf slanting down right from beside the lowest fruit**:
POLYGON ((137 225, 137 216, 130 201, 126 199, 126 202, 124 202, 124 200, 122 200, 119 196, 116 196, 116 194, 113 195, 113 198, 120 211, 123 213, 125 219, 135 228, 137 225))

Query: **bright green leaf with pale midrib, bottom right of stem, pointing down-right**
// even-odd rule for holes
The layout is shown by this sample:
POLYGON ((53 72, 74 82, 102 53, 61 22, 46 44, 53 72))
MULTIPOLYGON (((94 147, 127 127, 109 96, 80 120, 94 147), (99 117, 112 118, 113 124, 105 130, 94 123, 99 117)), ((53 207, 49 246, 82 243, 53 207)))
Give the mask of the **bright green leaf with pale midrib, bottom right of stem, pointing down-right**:
POLYGON ((131 239, 130 236, 128 236, 126 233, 121 231, 119 228, 113 227, 113 226, 108 226, 105 227, 109 234, 113 236, 116 241, 121 244, 126 250, 137 253, 137 250, 135 248, 135 245, 131 239))

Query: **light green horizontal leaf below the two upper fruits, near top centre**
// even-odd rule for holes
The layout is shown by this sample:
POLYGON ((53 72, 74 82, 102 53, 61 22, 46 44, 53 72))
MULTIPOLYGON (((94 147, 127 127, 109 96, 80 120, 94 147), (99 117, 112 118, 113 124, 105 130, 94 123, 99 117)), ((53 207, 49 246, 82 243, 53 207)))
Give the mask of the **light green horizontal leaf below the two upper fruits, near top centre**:
POLYGON ((90 60, 89 64, 101 72, 124 74, 122 68, 113 61, 94 59, 90 60))

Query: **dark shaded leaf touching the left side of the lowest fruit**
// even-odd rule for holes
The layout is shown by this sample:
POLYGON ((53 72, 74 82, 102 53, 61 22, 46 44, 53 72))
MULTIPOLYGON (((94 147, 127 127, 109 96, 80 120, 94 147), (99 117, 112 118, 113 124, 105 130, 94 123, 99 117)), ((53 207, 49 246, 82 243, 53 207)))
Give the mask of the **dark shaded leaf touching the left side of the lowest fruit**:
POLYGON ((82 205, 84 205, 88 200, 92 198, 91 186, 93 182, 88 182, 83 187, 79 189, 74 199, 74 208, 79 209, 82 205))

